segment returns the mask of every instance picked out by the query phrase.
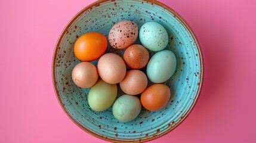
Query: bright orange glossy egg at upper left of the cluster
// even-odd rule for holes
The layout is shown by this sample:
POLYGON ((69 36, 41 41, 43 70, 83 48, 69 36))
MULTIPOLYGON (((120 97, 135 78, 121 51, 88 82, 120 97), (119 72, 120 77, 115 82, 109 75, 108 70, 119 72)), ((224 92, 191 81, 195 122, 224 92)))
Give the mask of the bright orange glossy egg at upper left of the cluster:
POLYGON ((98 32, 82 35, 75 43, 74 52, 81 61, 94 61, 100 58, 107 49, 107 38, 98 32))

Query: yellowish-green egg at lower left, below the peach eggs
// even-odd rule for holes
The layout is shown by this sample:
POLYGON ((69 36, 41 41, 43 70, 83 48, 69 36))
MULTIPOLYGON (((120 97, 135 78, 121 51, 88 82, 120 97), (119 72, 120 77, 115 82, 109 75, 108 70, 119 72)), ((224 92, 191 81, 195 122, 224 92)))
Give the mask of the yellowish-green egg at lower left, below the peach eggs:
POLYGON ((88 104, 94 111, 104 111, 116 100, 118 87, 99 79, 88 94, 88 104))

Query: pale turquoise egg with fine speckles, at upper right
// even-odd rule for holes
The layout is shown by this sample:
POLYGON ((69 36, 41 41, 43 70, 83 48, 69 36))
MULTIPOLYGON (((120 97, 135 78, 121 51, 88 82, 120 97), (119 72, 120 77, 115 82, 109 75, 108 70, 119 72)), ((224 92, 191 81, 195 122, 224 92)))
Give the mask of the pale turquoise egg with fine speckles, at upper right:
POLYGON ((161 51, 168 45, 165 27, 156 22, 144 23, 139 32, 140 42, 150 51, 161 51))

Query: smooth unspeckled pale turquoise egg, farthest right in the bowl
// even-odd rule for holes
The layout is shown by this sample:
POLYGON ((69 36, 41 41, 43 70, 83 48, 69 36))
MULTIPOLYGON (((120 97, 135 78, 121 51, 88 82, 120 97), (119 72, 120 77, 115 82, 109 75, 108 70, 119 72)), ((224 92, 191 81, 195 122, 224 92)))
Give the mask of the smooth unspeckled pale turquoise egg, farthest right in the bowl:
POLYGON ((147 64, 147 77, 154 83, 162 83, 168 80, 177 66, 173 52, 163 50, 156 52, 147 64))

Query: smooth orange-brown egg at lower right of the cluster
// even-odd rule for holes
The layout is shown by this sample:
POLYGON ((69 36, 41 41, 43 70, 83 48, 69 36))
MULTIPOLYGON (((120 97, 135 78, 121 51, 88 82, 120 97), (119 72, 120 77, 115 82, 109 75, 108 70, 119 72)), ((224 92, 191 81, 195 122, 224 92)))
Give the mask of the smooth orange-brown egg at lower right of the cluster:
POLYGON ((157 111, 165 107, 171 97, 171 91, 167 85, 154 84, 147 87, 141 94, 140 100, 144 108, 157 111))

